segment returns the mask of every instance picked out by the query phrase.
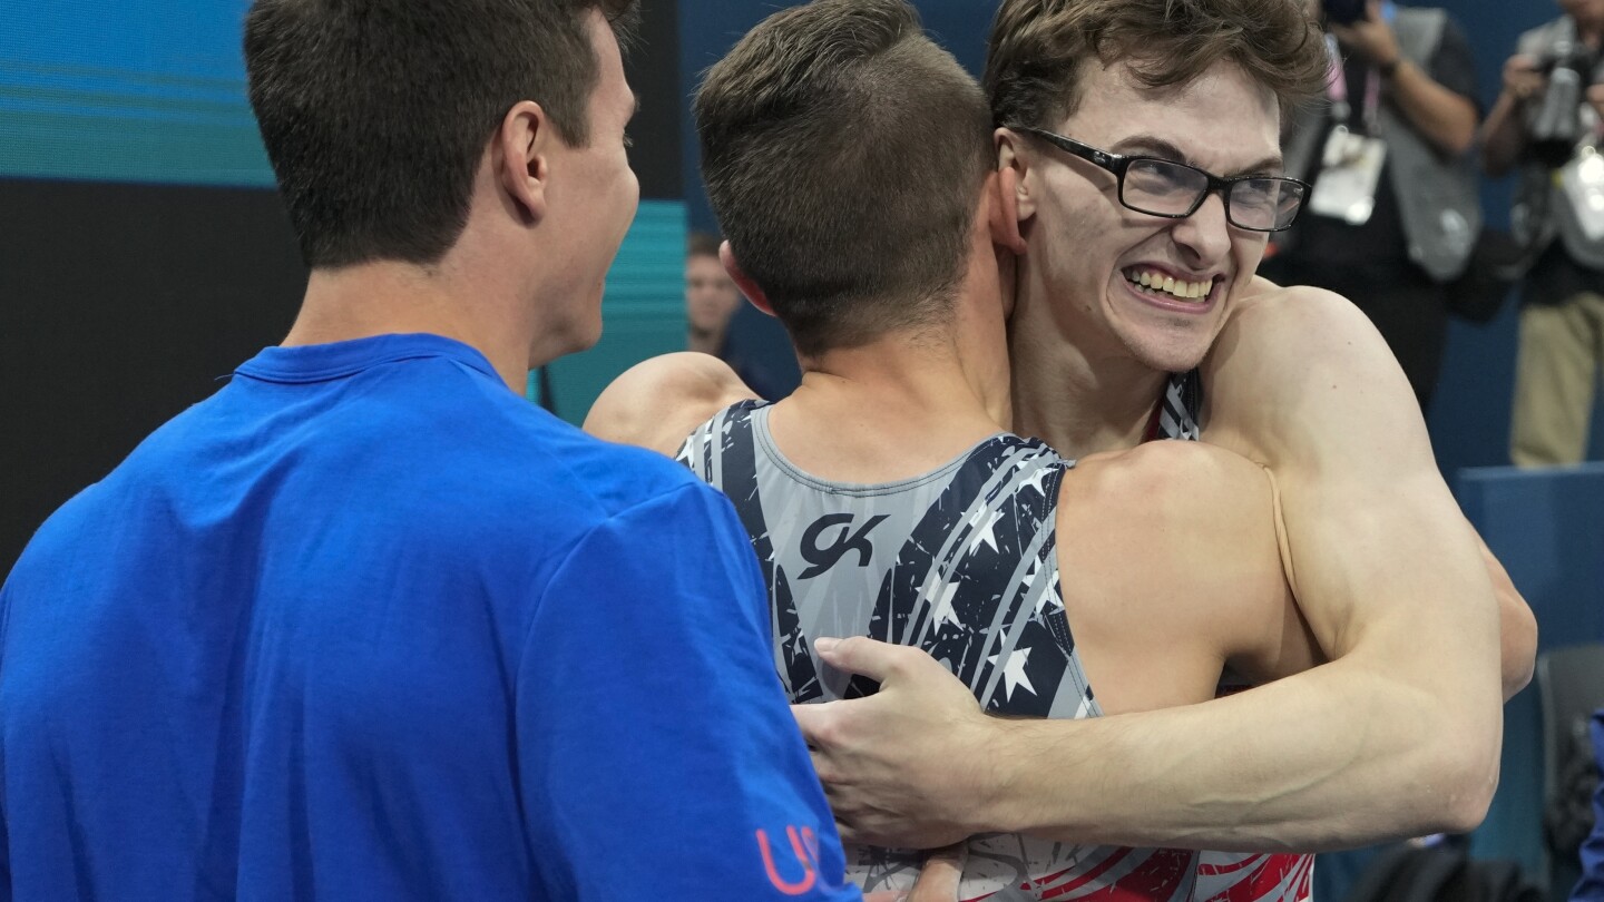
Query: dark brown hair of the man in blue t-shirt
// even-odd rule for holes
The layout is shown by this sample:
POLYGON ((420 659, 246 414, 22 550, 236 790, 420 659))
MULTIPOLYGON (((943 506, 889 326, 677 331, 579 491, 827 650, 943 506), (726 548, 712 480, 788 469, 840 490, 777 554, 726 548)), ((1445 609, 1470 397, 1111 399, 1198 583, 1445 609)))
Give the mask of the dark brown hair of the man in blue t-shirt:
POLYGON ((584 146, 590 10, 634 21, 634 0, 257 0, 250 106, 306 263, 438 262, 518 101, 584 146))

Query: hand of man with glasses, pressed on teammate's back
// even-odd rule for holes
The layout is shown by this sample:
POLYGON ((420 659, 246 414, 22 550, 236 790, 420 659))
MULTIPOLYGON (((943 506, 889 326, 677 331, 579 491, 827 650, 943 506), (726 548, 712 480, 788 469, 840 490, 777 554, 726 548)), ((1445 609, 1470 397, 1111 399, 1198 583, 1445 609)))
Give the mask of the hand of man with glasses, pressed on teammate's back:
POLYGON ((828 664, 881 682, 868 698, 792 705, 849 843, 929 849, 986 828, 983 785, 1001 721, 930 655, 861 636, 818 639, 828 664))

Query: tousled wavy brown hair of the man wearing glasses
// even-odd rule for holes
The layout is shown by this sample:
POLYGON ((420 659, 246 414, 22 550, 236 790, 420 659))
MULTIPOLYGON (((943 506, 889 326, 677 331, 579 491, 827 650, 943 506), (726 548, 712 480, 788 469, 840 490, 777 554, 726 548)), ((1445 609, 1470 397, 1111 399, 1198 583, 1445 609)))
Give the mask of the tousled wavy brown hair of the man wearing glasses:
POLYGON ((1285 112, 1325 87, 1330 61, 1301 0, 1003 0, 986 45, 996 125, 1054 127, 1079 106, 1083 66, 1124 61, 1150 88, 1227 59, 1285 112))

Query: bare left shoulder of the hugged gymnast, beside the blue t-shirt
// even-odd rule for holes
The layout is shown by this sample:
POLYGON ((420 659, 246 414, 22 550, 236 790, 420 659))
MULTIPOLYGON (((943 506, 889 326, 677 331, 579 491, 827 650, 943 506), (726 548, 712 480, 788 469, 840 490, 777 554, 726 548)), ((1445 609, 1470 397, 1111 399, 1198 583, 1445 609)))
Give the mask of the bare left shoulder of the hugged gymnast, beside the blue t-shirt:
POLYGON ((725 361, 680 351, 642 361, 613 380, 585 416, 585 432, 674 454, 714 414, 757 395, 725 361))

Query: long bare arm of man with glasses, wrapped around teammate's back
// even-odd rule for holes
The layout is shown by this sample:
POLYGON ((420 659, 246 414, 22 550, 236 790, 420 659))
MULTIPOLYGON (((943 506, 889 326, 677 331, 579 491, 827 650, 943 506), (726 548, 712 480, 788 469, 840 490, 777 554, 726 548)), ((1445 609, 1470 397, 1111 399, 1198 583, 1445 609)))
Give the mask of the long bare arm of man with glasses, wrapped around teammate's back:
POLYGON ((1278 300, 1227 329, 1208 384, 1216 409, 1235 390, 1267 417, 1237 429, 1272 437, 1298 602, 1331 663, 1185 708, 994 721, 927 656, 850 640, 824 656, 877 671, 881 697, 794 709, 849 835, 853 806, 900 807, 884 836, 930 844, 1318 851, 1480 822, 1501 733, 1485 563, 1375 329, 1325 292, 1278 300))

